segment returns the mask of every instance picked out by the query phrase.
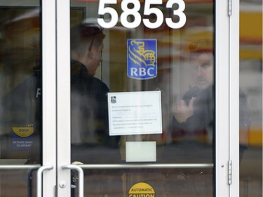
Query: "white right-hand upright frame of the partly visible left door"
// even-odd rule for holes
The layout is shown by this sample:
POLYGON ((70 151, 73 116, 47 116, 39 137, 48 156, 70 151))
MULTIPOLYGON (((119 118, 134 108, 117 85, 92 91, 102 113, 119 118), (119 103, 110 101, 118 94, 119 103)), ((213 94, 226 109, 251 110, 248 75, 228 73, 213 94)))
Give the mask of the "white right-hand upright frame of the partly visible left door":
POLYGON ((53 170, 43 172, 43 196, 55 196, 56 165, 56 70, 55 70, 55 1, 42 1, 42 99, 43 165, 53 170))

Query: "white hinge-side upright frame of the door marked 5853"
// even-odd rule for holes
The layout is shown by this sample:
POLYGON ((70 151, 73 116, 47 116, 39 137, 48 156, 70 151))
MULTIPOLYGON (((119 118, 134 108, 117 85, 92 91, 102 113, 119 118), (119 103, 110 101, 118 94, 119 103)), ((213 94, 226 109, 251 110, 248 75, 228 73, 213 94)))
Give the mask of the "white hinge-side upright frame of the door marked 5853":
POLYGON ((227 1, 215 1, 215 194, 229 196, 229 16, 227 1))

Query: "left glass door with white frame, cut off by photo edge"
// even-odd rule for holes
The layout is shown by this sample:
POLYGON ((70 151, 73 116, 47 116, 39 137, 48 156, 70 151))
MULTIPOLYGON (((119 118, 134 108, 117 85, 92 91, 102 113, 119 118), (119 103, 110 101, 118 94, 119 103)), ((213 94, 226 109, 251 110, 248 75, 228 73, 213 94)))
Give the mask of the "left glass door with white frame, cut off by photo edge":
POLYGON ((1 1, 0 18, 0 196, 55 196, 55 2, 1 1))

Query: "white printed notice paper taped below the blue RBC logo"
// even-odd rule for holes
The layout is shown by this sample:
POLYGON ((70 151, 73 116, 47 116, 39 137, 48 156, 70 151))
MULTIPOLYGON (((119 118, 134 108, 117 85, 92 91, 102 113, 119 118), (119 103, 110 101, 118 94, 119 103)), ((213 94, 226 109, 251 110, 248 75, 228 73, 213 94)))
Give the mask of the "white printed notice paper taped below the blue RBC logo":
POLYGON ((108 93, 109 135, 162 133, 161 91, 108 93))

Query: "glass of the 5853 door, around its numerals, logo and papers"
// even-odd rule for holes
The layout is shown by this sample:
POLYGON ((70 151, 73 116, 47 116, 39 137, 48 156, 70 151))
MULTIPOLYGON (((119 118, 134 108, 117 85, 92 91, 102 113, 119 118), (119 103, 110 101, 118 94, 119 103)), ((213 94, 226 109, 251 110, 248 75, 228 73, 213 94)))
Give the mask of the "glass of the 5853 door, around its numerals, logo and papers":
MULTIPOLYGON (((112 28, 101 29, 96 25, 97 18, 103 18, 97 14, 97 2, 72 1, 71 6, 74 11, 83 11, 82 18, 71 14, 72 162, 128 163, 126 142, 150 141, 156 142, 155 163, 213 164, 213 2, 186 4, 187 22, 181 29, 171 29, 165 21, 156 29, 144 27, 143 22, 128 29, 121 21, 112 28), (147 42, 140 40, 130 42, 137 45, 128 55, 128 39, 156 39, 157 50, 147 48, 147 42), (154 53, 157 64, 147 64, 147 58, 154 60, 154 53), (147 65, 156 67, 157 76, 129 77, 127 62, 131 56, 130 62, 137 64, 133 74, 153 75, 147 73, 147 65), (139 66, 142 61, 144 64, 139 66), (123 135, 110 136, 107 93, 155 90, 161 90, 161 134, 126 135, 123 129, 123 135)), ((118 15, 123 13, 121 1, 104 6, 118 15)), ((127 6, 133 10, 133 6, 127 6)), ((144 4, 136 3, 136 7, 140 7, 138 13, 143 16, 144 4)), ((151 7, 161 11, 163 18, 178 20, 173 8, 165 4, 151 7)), ((136 16, 137 13, 125 20, 132 23, 136 16)), ((156 20, 155 15, 142 18, 156 20)), ((138 182, 151 185, 156 196, 213 196, 214 191, 213 168, 89 169, 85 175, 85 193, 94 196, 126 196, 138 182)), ((74 179, 76 175, 72 174, 72 183, 74 179)), ((77 189, 72 193, 76 195, 77 189)))

